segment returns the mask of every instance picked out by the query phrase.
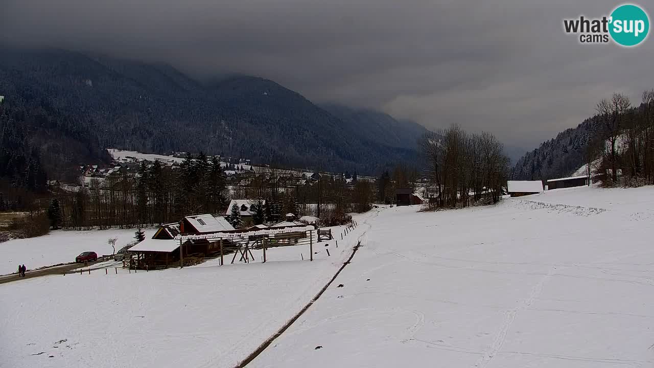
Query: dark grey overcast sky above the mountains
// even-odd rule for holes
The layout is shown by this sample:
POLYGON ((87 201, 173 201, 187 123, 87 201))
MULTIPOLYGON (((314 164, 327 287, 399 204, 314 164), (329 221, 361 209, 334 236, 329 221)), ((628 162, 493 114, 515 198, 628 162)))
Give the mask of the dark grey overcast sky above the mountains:
POLYGON ((258 75, 318 103, 428 128, 457 122, 530 149, 614 91, 638 103, 654 88, 652 37, 636 48, 579 45, 562 30, 563 18, 608 15, 620 3, 571 3, 3 0, 0 41, 258 75))

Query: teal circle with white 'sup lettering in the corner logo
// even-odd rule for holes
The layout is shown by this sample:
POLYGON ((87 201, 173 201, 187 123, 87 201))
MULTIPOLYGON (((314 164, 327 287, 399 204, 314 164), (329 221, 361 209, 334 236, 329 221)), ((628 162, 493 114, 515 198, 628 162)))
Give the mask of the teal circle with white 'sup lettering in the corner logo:
POLYGON ((649 33, 649 18, 645 10, 636 5, 625 4, 611 13, 609 33, 613 41, 622 46, 636 46, 649 33))

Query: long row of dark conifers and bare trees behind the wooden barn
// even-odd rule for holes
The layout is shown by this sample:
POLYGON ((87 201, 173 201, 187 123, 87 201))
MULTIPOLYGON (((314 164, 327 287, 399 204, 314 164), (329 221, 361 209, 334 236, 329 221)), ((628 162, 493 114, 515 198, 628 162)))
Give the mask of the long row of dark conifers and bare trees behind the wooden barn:
POLYGON ((341 177, 322 174, 318 180, 285 185, 283 179, 289 174, 286 170, 251 173, 245 184, 228 186, 221 162, 203 153, 187 155, 177 167, 141 162, 135 175, 119 171, 103 181, 91 179, 73 193, 53 193, 47 214, 55 229, 157 225, 201 213, 228 213, 228 220, 239 227, 242 221, 236 209, 228 211, 232 198, 255 201, 255 225, 283 221, 286 213, 296 219, 313 215, 339 222, 347 219, 345 213, 370 210, 375 200, 375 187, 366 180, 347 185, 341 177))

